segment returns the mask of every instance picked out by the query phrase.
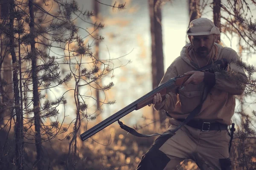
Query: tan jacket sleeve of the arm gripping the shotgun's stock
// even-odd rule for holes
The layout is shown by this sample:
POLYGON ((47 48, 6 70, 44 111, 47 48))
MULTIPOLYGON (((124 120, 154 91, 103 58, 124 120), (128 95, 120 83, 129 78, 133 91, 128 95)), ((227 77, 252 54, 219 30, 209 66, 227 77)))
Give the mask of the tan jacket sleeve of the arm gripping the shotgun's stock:
POLYGON ((236 63, 232 62, 239 59, 236 51, 232 48, 224 50, 228 51, 227 57, 225 56, 224 58, 227 59, 229 64, 223 73, 215 72, 215 85, 213 87, 233 95, 241 95, 245 89, 244 82, 248 81, 247 76, 242 68, 239 68, 236 63))

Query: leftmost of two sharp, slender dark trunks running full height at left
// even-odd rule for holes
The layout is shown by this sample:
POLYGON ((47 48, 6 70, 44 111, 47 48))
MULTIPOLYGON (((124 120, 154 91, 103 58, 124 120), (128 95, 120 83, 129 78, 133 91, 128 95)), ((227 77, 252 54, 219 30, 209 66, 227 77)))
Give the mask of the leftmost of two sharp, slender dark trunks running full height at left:
MULTIPOLYGON (((10 53, 12 56, 12 65, 17 65, 17 57, 15 53, 15 35, 14 35, 14 8, 15 3, 13 0, 9 1, 10 8, 10 53)), ((20 45, 20 44, 19 44, 20 45)), ((20 54, 20 52, 19 52, 20 54)), ((19 66, 20 68, 21 66, 19 66)), ((19 70, 20 71, 20 70, 19 70)), ((20 71, 21 74, 21 71, 20 71)), ((22 105, 22 86, 20 86, 19 90, 19 82, 21 85, 21 79, 18 79, 18 68, 15 67, 13 69, 13 89, 14 89, 14 99, 15 99, 15 156, 16 156, 16 167, 17 170, 23 170, 24 166, 24 134, 23 134, 23 105, 22 105), (20 95, 21 94, 21 95, 20 95)))

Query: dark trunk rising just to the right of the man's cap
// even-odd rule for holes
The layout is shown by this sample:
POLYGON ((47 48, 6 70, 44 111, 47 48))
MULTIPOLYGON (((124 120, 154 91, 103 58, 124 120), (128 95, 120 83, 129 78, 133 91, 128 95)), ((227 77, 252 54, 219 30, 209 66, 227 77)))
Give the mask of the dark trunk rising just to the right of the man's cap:
MULTIPOLYGON (((221 0, 213 0, 213 23, 221 31, 221 0)), ((218 35, 216 43, 221 42, 221 36, 218 35)))

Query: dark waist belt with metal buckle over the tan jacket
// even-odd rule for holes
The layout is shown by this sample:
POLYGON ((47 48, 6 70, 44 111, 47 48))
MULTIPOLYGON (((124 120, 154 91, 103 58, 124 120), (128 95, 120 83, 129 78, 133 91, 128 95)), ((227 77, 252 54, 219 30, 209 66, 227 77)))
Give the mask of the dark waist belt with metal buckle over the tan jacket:
MULTIPOLYGON (((183 122, 185 119, 177 119, 180 122, 183 122)), ((227 125, 218 123, 218 122, 207 122, 205 120, 190 120, 186 125, 190 127, 194 127, 195 129, 201 129, 204 132, 208 132, 209 130, 227 130, 227 125)))

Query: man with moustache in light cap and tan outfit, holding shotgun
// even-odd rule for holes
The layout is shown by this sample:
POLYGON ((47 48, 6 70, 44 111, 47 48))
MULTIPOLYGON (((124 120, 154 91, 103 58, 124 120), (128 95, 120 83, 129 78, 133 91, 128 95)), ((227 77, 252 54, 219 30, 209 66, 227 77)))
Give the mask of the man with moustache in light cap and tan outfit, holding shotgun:
POLYGON ((184 88, 166 94, 162 99, 156 94, 153 106, 156 110, 168 112, 172 119, 168 130, 173 130, 202 101, 204 89, 209 93, 204 99, 201 110, 189 123, 181 127, 174 136, 160 136, 142 156, 137 170, 172 170, 184 159, 193 159, 201 170, 230 170, 230 136, 227 126, 235 109, 234 95, 241 95, 244 86, 238 79, 246 81, 244 71, 231 60, 238 59, 238 54, 231 48, 215 43, 220 34, 218 27, 207 18, 192 20, 187 34, 190 43, 183 47, 167 69, 160 85, 178 75, 191 75, 184 83, 184 88), (220 59, 229 62, 227 76, 219 72, 195 71, 220 59), (229 77, 232 72, 232 79, 229 77))

